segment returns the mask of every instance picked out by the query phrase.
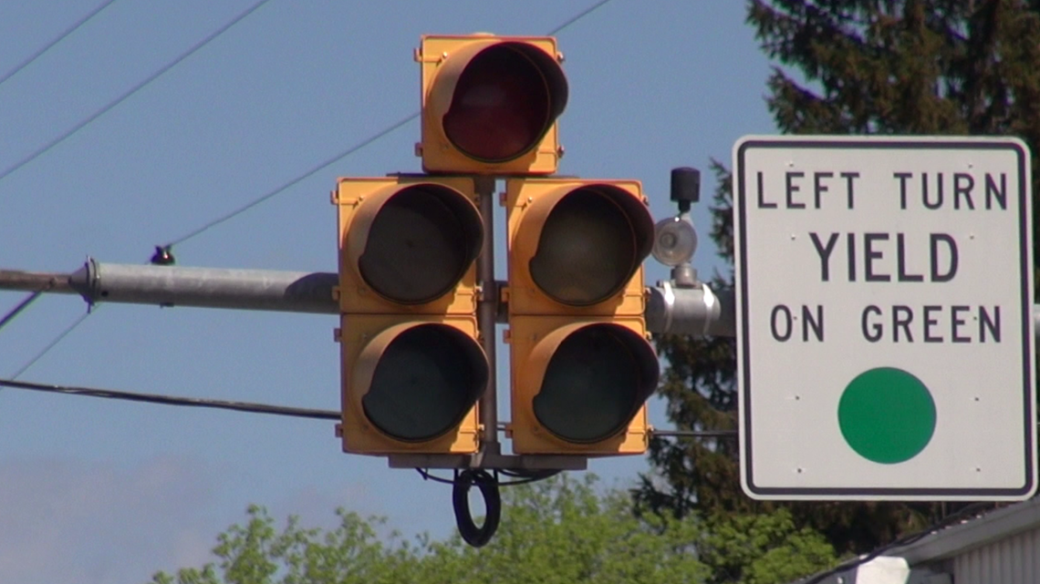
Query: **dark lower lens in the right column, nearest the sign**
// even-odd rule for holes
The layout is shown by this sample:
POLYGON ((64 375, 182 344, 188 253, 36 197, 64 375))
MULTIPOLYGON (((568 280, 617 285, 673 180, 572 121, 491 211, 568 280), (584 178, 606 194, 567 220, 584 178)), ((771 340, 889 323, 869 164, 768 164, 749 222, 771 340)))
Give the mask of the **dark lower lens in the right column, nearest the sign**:
POLYGON ((599 442, 624 429, 657 386, 650 344, 616 324, 592 324, 568 336, 545 370, 535 417, 574 443, 599 442))

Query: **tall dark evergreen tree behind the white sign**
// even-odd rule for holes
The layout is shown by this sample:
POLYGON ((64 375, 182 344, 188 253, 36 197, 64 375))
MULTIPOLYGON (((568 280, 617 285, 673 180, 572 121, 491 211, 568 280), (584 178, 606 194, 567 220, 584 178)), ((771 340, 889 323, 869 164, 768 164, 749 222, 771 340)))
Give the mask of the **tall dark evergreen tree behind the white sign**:
MULTIPOLYGON (((1033 150, 1040 192, 1040 1, 751 0, 748 23, 778 61, 768 106, 791 134, 1014 135, 1033 150)), ((711 236, 732 265, 729 171, 719 179, 711 236)), ((1040 205, 1034 204, 1034 220, 1040 205)), ((1034 241, 1034 258, 1037 255, 1034 241)), ((732 272, 717 286, 732 286, 732 272)), ((678 428, 736 427, 732 339, 668 337, 660 393, 678 428)), ((864 552, 939 519, 939 504, 774 504, 745 497, 736 441, 656 440, 636 498, 643 508, 732 516, 790 510, 839 552, 864 552)), ((722 579, 720 581, 725 581, 722 579)))

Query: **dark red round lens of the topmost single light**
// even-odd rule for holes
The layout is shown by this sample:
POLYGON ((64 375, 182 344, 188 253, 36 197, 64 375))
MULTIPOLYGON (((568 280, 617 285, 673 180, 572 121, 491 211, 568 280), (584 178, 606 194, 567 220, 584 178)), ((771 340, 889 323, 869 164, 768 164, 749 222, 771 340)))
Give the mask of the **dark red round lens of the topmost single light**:
POLYGON ((563 73, 544 53, 518 44, 493 45, 459 76, 442 122, 444 134, 477 160, 513 160, 535 148, 563 111, 566 88, 561 84, 566 85, 563 73))

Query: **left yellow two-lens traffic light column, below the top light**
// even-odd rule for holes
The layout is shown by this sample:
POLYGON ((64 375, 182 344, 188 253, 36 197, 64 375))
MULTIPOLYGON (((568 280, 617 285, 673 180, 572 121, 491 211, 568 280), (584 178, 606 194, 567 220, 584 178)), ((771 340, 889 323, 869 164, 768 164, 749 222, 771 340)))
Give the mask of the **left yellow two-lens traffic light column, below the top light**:
POLYGON ((475 201, 465 178, 340 179, 333 192, 344 451, 478 450, 475 201))

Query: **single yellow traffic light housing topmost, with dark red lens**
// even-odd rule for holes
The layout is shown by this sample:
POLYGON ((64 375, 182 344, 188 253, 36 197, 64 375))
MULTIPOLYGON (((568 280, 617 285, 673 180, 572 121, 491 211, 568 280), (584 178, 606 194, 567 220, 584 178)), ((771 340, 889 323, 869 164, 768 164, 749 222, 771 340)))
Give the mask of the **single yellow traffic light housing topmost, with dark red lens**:
POLYGON ((415 58, 422 77, 417 149, 425 171, 556 171, 567 78, 555 38, 425 35, 415 58))

